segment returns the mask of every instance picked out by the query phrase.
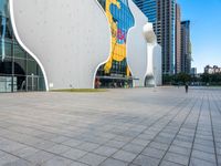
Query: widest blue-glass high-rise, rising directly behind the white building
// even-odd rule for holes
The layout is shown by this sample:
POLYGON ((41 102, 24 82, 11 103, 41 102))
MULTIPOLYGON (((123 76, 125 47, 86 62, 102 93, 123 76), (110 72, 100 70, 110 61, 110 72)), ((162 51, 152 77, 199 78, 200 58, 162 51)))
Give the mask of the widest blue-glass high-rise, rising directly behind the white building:
POLYGON ((175 73, 176 0, 134 0, 154 23, 157 41, 162 48, 162 74, 175 73))

